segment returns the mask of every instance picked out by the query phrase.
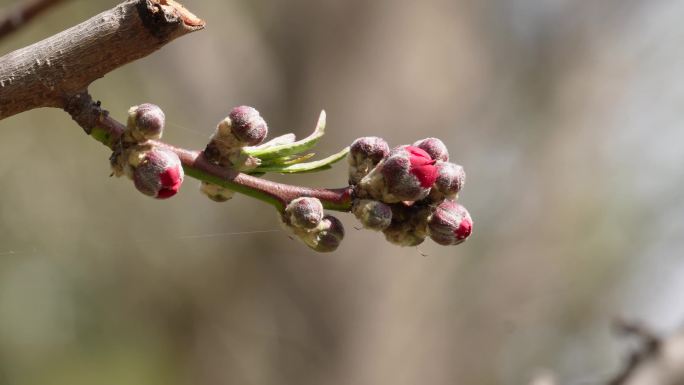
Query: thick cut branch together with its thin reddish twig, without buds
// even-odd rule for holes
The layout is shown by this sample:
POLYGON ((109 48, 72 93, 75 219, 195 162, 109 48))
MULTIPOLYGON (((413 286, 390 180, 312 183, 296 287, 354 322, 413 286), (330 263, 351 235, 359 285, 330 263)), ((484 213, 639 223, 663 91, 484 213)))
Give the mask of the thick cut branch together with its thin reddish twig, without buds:
MULTIPOLYGON (((114 148, 125 126, 93 102, 87 87, 126 63, 171 40, 202 29, 204 22, 172 0, 129 0, 73 28, 0 58, 0 119, 38 107, 58 107, 89 135, 114 148)), ((220 167, 201 152, 154 141, 175 152, 185 172, 274 205, 294 198, 319 198, 332 210, 348 211, 351 187, 291 186, 220 167)))

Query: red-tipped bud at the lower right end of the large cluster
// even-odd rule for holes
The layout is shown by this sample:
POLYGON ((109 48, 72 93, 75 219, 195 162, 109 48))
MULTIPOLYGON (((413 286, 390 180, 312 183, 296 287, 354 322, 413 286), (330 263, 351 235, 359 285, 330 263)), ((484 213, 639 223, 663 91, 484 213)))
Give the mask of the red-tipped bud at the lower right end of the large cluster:
POLYGON ((473 220, 468 210, 454 201, 440 203, 428 220, 430 238, 440 245, 458 245, 472 231, 473 220))

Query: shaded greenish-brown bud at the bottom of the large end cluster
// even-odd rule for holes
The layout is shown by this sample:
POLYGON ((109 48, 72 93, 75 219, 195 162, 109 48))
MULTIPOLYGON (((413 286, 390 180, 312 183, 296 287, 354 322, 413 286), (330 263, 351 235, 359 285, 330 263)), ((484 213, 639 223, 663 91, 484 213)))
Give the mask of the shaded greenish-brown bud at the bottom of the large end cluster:
POLYGON ((385 239, 399 246, 418 246, 427 237, 429 207, 392 205, 392 223, 383 230, 385 239))

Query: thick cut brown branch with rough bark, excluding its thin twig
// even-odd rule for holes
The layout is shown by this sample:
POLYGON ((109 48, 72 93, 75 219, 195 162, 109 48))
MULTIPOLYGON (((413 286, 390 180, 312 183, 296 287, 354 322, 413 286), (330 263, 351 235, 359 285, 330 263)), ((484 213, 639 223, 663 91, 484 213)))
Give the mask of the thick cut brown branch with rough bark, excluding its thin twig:
POLYGON ((130 0, 0 58, 0 119, 67 101, 108 72, 202 29, 171 0, 130 0))

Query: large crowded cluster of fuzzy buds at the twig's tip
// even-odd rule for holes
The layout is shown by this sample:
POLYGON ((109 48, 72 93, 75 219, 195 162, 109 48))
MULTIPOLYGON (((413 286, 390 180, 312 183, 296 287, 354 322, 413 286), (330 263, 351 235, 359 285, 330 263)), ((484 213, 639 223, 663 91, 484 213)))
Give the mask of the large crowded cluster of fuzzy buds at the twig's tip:
POLYGON ((441 140, 426 138, 390 150, 382 138, 359 138, 348 159, 352 213, 363 227, 382 231, 400 246, 419 245, 428 236, 456 245, 472 232, 470 214, 456 202, 465 172, 449 162, 441 140))

